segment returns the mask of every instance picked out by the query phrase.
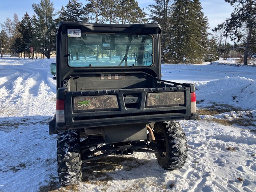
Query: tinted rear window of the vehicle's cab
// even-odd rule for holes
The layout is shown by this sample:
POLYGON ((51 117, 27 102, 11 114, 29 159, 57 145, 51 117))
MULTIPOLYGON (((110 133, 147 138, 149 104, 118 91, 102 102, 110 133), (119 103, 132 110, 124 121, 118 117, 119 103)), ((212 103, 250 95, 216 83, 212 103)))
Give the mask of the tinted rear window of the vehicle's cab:
POLYGON ((151 35, 82 33, 68 36, 71 67, 150 66, 153 63, 151 35))

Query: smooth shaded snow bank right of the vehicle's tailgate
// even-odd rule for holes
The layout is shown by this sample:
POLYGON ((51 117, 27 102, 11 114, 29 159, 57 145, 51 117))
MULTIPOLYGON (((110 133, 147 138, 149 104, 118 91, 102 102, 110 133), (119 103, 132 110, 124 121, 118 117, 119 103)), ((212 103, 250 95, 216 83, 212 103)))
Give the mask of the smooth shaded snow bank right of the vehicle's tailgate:
POLYGON ((245 77, 225 77, 196 83, 199 101, 224 103, 243 109, 256 109, 256 82, 245 77))

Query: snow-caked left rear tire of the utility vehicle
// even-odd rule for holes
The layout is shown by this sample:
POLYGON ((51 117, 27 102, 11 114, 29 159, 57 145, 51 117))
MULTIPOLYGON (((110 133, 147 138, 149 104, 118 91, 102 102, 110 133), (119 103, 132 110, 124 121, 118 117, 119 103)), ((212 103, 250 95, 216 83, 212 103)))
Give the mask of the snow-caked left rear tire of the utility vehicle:
POLYGON ((75 184, 82 180, 79 131, 58 133, 57 164, 60 184, 75 184))

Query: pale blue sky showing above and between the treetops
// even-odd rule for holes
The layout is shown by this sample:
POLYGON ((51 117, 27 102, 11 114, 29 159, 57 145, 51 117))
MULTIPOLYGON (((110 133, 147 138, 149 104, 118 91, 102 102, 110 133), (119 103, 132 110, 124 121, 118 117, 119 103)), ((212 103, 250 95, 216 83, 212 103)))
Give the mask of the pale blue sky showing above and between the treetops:
MULTIPOLYGON (((154 0, 137 0, 140 8, 145 8, 148 4, 154 4, 154 0)), ((68 0, 51 0, 56 10, 60 9, 62 5, 67 5, 68 0)), ((86 3, 86 0, 80 0, 82 3, 86 3)), ((208 17, 210 28, 214 28, 217 24, 222 23, 226 18, 230 16, 233 11, 233 7, 226 3, 224 0, 200 0, 204 15, 208 17)), ((29 16, 32 16, 34 11, 32 4, 39 4, 40 0, 0 0, 0 23, 4 24, 7 17, 13 20, 13 15, 16 13, 19 20, 22 19, 24 14, 28 12, 29 16)), ((147 11, 147 9, 144 9, 147 11)), ((0 26, 1 29, 1 26, 0 26)))

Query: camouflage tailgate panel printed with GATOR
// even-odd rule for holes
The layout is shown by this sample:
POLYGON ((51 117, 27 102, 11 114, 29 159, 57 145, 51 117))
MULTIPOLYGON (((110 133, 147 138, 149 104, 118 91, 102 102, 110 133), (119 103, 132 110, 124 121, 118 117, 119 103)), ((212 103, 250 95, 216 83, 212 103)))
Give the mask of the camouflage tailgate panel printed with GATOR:
POLYGON ((118 101, 115 95, 111 96, 80 96, 73 98, 73 111, 107 111, 118 110, 118 101))

